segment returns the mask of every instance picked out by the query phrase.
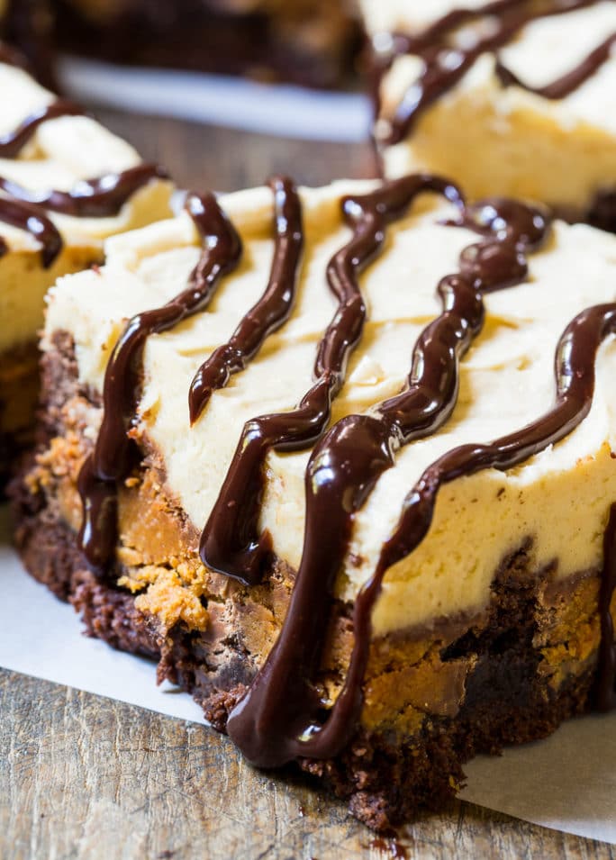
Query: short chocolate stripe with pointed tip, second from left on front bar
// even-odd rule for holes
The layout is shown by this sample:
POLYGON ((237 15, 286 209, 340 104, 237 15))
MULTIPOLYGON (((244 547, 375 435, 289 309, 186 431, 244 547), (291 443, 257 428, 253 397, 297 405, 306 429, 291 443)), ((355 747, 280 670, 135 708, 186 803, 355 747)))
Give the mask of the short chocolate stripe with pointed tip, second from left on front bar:
POLYGON ((195 423, 215 389, 228 384, 254 358, 265 339, 288 320, 293 310, 299 261, 303 248, 302 204, 293 182, 273 177, 276 248, 265 293, 242 318, 231 339, 204 361, 195 374, 188 404, 195 423))

